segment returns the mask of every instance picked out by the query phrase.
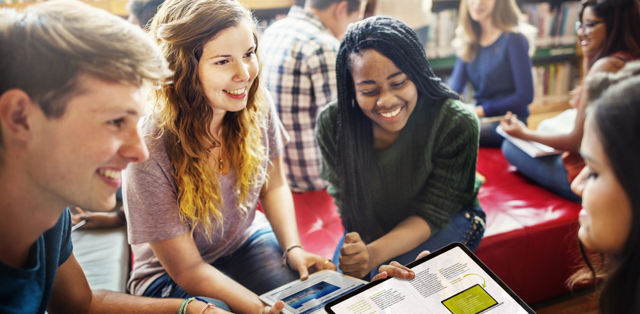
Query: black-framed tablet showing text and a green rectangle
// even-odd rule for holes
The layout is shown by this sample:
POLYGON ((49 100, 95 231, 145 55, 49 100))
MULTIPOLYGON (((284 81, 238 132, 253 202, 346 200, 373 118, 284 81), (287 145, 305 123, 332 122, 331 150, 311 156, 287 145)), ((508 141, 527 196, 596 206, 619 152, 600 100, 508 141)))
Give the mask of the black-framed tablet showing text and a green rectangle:
POLYGON ((460 242, 406 267, 415 278, 373 281, 324 309, 329 314, 536 313, 460 242))

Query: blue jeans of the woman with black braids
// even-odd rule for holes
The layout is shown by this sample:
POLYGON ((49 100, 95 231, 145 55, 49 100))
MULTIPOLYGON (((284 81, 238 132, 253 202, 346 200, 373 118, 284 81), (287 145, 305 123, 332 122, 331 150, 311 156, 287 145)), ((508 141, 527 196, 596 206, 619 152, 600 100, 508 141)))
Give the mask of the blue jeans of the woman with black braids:
MULTIPOLYGON (((428 240, 422 242, 422 244, 415 247, 415 249, 374 267, 374 269, 369 272, 369 275, 362 279, 370 281, 371 278, 378 274, 378 269, 382 265, 388 265, 393 261, 406 265, 413 262, 422 251, 433 252, 453 242, 461 242, 471 251, 476 251, 477 247, 480 245, 480 240, 484 235, 485 217, 486 216, 484 216, 484 212, 480 207, 458 210, 458 212, 451 215, 451 222, 446 229, 438 230, 436 233, 433 233, 428 240)), ((344 234, 346 235, 347 232, 344 234)), ((336 247, 335 253, 333 253, 333 263, 337 266, 339 266, 340 248, 342 248, 343 243, 344 235, 342 235, 342 239, 338 242, 338 247, 336 247)), ((340 268, 338 268, 338 271, 342 272, 340 271, 340 268)))

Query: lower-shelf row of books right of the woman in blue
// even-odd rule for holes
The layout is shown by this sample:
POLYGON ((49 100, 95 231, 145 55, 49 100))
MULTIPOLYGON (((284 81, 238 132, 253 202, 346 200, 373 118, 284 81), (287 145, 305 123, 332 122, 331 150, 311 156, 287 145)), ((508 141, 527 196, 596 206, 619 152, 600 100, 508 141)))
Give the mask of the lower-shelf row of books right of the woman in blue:
POLYGON ((579 77, 577 67, 568 61, 533 67, 531 72, 536 99, 549 95, 567 95, 579 77))

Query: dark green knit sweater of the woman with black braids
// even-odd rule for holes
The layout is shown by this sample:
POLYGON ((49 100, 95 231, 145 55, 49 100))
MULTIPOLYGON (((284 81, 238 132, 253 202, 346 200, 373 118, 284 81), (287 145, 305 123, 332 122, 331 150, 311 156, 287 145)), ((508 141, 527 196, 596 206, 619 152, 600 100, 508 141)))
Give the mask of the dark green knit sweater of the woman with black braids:
MULTIPOLYGON (((316 137, 323 155, 321 175, 340 208, 343 196, 335 172, 337 115, 337 101, 323 108, 316 137)), ((479 206, 478 138, 476 115, 460 100, 447 99, 436 106, 420 97, 396 142, 387 150, 374 151, 369 195, 383 232, 390 232, 406 217, 418 216, 435 233, 447 228, 454 212, 479 206)))

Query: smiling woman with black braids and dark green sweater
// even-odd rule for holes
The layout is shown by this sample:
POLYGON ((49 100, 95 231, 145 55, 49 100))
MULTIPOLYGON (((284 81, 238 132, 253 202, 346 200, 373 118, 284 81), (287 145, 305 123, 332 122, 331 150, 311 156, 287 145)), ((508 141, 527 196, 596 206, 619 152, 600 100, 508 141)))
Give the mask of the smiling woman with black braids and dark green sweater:
POLYGON ((484 232, 477 118, 433 74, 412 29, 390 17, 351 24, 337 81, 316 137, 350 232, 333 259, 340 270, 371 278, 380 264, 451 242, 475 249, 484 232))

